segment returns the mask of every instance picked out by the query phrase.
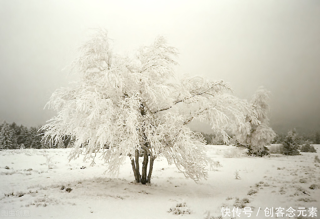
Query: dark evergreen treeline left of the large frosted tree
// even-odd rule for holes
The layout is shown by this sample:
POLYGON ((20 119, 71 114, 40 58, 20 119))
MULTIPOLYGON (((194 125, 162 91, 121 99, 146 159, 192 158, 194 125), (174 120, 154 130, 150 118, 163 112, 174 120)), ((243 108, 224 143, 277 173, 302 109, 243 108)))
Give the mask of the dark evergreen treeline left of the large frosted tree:
POLYGON ((0 149, 19 149, 19 148, 65 148, 71 147, 70 139, 61 139, 56 145, 44 144, 41 141, 42 135, 39 127, 27 128, 23 125, 11 124, 4 121, 0 124, 0 149))

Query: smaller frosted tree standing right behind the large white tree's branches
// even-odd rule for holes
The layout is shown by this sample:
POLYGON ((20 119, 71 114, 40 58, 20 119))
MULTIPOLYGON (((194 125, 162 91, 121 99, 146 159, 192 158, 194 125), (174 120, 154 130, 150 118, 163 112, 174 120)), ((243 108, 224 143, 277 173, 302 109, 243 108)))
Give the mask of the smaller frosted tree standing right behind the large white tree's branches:
POLYGON ((248 149, 248 154, 253 156, 268 155, 268 145, 275 137, 276 133, 269 126, 269 100, 270 92, 260 88, 252 96, 251 104, 257 113, 259 123, 249 120, 251 124, 251 132, 249 135, 238 135, 237 141, 240 146, 248 149))

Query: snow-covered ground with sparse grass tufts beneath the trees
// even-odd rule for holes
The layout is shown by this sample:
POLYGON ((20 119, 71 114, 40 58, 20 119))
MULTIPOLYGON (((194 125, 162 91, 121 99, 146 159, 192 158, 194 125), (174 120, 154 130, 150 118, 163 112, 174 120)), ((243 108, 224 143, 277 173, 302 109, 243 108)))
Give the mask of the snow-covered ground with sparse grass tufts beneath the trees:
MULTIPOLYGON (((150 186, 133 183, 128 159, 120 174, 111 177, 103 173, 105 167, 98 159, 93 167, 81 158, 68 163, 70 148, 47 150, 52 169, 48 169, 44 150, 3 150, 0 151, 1 216, 209 219, 226 214, 226 207, 232 210, 236 205, 252 213, 249 216, 241 212, 240 217, 234 218, 276 218, 279 207, 284 208, 282 218, 289 217, 286 214, 290 213, 290 207, 295 210, 292 218, 320 218, 320 163, 314 162, 315 155, 320 157, 320 145, 315 145, 317 153, 302 153, 302 156, 224 158, 230 148, 208 146, 208 154, 221 165, 209 171, 208 180, 198 184, 186 179, 164 158, 157 158, 150 186), (235 172, 240 179, 236 179, 235 172), (67 188, 72 190, 68 192, 67 188), (187 214, 169 212, 184 203, 186 207, 176 210, 184 209, 187 214), (266 215, 267 207, 273 207, 272 217, 266 215), (307 217, 297 217, 304 210, 299 207, 305 208, 303 214, 307 217), (311 217, 312 207, 319 211, 317 216, 311 217)), ((232 212, 229 215, 233 217, 232 212)))

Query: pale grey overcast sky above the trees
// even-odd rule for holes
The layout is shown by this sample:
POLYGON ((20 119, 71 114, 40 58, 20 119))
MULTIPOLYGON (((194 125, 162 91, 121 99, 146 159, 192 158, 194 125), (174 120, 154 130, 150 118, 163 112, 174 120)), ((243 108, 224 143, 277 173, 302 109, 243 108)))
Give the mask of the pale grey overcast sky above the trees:
POLYGON ((72 80, 61 69, 90 28, 105 28, 117 51, 165 36, 180 51, 179 74, 223 79, 238 97, 264 86, 276 130, 320 130, 318 0, 0 0, 0 27, 0 122, 54 116, 44 105, 72 80))

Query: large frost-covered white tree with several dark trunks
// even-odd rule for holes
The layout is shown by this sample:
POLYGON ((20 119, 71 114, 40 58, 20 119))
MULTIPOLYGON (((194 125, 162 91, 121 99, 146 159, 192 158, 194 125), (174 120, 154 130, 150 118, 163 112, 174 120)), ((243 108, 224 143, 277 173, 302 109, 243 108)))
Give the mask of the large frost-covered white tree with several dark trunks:
POLYGON ((201 135, 186 124, 207 120, 227 140, 226 131, 247 135, 250 124, 260 123, 252 105, 232 96, 227 83, 187 76, 175 80, 178 52, 163 37, 126 57, 112 52, 101 30, 80 52, 72 63, 79 81, 52 94, 47 105, 58 114, 41 129, 45 141, 75 139, 70 159, 84 154, 94 164, 95 153, 102 152, 108 172, 117 173, 129 156, 135 180, 146 184, 155 158, 164 156, 198 181, 207 177, 211 159, 201 135))

